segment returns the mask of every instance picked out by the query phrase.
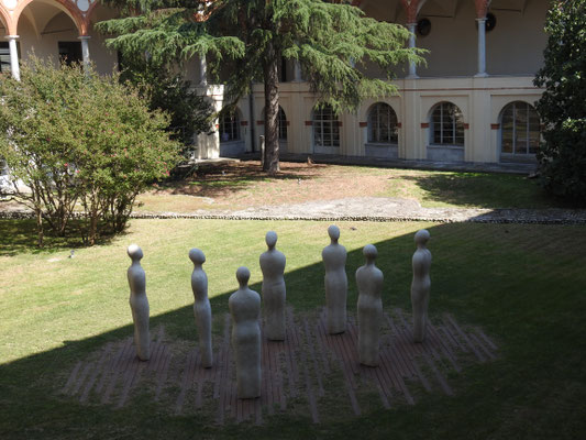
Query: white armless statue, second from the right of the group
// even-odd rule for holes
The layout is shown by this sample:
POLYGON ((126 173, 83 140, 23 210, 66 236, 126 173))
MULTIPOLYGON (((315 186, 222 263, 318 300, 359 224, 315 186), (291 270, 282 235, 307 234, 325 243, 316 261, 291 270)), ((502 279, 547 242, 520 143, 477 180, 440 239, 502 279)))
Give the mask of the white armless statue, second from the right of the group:
POLYGON ((358 286, 358 358, 361 364, 377 366, 383 321, 383 272, 376 267, 378 254, 373 244, 363 250, 366 264, 356 271, 358 286))

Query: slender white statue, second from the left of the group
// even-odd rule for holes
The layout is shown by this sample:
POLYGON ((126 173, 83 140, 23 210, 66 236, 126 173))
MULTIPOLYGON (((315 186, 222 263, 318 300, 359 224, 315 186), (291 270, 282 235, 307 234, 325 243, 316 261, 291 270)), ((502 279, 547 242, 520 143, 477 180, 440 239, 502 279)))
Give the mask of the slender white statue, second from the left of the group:
POLYGON ((206 262, 206 255, 199 249, 192 249, 189 251, 189 258, 194 262, 191 289, 195 298, 194 315, 199 334, 201 364, 209 369, 213 365, 213 352, 211 348, 211 306, 208 299, 208 276, 201 267, 206 262))

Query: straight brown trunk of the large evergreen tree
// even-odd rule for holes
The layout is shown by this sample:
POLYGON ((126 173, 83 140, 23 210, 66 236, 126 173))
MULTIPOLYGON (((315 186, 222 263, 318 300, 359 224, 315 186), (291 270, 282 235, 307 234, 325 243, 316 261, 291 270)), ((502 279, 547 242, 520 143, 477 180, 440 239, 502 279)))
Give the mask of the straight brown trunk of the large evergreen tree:
POLYGON ((268 44, 263 63, 265 80, 265 164, 263 169, 269 175, 279 170, 279 56, 272 43, 268 44))

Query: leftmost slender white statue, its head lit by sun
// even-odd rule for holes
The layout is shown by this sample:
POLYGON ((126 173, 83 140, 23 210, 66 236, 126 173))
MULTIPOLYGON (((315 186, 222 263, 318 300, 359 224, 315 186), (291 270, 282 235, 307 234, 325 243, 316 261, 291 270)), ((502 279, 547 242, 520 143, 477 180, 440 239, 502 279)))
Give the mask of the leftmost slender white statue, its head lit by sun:
POLYGON ((141 266, 143 251, 136 244, 131 244, 128 249, 132 264, 126 272, 130 286, 130 309, 134 321, 134 345, 136 355, 141 361, 148 361, 151 358, 148 334, 148 299, 146 298, 146 277, 141 266))

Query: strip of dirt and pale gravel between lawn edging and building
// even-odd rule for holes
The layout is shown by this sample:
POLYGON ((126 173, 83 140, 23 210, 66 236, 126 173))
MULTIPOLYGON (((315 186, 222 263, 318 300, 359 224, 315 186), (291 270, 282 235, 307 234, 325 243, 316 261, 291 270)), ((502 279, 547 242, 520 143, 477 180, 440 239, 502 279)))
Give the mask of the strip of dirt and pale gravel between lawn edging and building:
MULTIPOLYGON (((497 209, 482 202, 471 206, 462 194, 472 191, 475 201, 476 198, 482 201, 486 194, 478 195, 478 191, 486 193, 486 188, 479 188, 485 184, 458 188, 458 184, 466 186, 471 182, 457 182, 453 176, 436 172, 311 162, 281 162, 280 167, 280 173, 269 177, 258 161, 194 166, 175 180, 151 185, 136 198, 134 215, 586 223, 586 210, 549 206, 545 206, 548 209, 497 209), (447 185, 432 183, 422 189, 425 179, 438 178, 447 179, 447 185), (422 206, 430 191, 441 202, 435 200, 435 205, 422 206)), ((494 180, 486 183, 490 184, 494 180)), ((510 188, 518 186, 508 186, 505 191, 510 188)), ((467 196, 469 198, 471 194, 467 196)), ((0 202, 0 216, 23 210, 22 205, 14 201, 0 202)))

